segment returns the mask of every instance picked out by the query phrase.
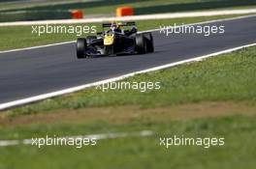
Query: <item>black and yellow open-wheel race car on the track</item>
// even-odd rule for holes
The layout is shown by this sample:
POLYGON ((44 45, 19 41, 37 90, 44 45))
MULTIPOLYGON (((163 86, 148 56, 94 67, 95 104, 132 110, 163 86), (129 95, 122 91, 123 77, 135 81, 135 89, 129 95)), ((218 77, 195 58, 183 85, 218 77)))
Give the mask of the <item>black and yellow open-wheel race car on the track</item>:
POLYGON ((135 22, 103 23, 103 31, 97 36, 79 38, 77 57, 144 54, 154 51, 150 32, 138 33, 135 22), (125 27, 127 29, 122 29, 125 27), (108 28, 106 30, 106 28, 108 28))

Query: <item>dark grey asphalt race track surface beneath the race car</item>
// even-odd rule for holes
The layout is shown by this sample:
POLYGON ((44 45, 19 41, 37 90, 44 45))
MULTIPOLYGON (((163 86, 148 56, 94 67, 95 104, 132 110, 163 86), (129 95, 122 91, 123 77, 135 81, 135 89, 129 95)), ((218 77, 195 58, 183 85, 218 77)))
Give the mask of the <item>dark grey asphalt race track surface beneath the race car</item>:
POLYGON ((95 82, 124 73, 256 42, 256 16, 220 21, 225 34, 209 37, 154 32, 155 53, 78 60, 75 43, 0 54, 0 103, 95 82))

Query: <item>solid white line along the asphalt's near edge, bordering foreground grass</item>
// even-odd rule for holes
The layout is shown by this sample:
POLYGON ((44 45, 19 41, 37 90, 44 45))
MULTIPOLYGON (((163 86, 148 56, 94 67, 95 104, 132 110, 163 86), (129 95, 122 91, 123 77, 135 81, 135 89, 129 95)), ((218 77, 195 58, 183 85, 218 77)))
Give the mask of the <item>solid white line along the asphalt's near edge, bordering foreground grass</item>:
POLYGON ((220 54, 224 54, 224 53, 230 53, 230 52, 233 52, 233 51, 236 51, 236 50, 240 50, 241 48, 244 48, 244 47, 250 47, 250 46, 255 46, 255 45, 256 45, 256 43, 241 45, 239 47, 234 47, 234 48, 218 51, 218 52, 215 52, 215 53, 195 57, 195 58, 192 58, 192 59, 186 59, 186 60, 183 60, 183 61, 178 61, 178 62, 175 62, 175 63, 170 63, 170 64, 167 64, 167 65, 154 67, 154 68, 150 68, 150 69, 146 69, 146 70, 139 70, 139 71, 130 72, 130 73, 127 73, 127 74, 123 74, 123 75, 116 76, 116 77, 113 77, 113 78, 109 78, 109 79, 106 79, 106 80, 97 81, 97 82, 94 82, 94 83, 84 84, 84 85, 80 85, 80 86, 76 86, 76 87, 72 87, 72 88, 68 88, 68 89, 64 89, 64 90, 61 90, 61 91, 56 91, 56 92, 52 92, 52 93, 48 93, 48 94, 43 94, 43 95, 39 95, 39 96, 27 98, 27 99, 18 99, 18 100, 15 100, 15 101, 2 103, 2 104, 0 104, 0 110, 16 107, 18 105, 23 105, 23 104, 27 104, 27 103, 31 103, 31 102, 36 102, 36 101, 43 100, 43 99, 49 99, 49 98, 54 98, 54 97, 58 97, 58 96, 66 95, 66 94, 71 94, 71 93, 78 92, 78 91, 86 89, 86 88, 91 88, 91 87, 95 87, 95 86, 102 85, 102 84, 105 84, 105 83, 110 83, 110 82, 113 82, 113 81, 122 80, 124 78, 134 76, 136 74, 141 74, 141 73, 154 71, 154 70, 164 70, 164 69, 168 69, 168 68, 175 67, 177 65, 181 65, 181 64, 185 64, 185 63, 189 63, 189 62, 202 61, 203 59, 206 59, 208 57, 212 57, 212 56, 216 56, 216 55, 220 55, 220 54))

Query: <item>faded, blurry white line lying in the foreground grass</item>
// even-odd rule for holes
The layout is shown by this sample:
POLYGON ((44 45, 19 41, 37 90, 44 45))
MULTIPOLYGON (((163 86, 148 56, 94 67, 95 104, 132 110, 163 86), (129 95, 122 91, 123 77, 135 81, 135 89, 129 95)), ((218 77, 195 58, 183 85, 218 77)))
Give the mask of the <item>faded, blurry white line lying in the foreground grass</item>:
MULTIPOLYGON (((124 138, 124 137, 146 137, 153 135, 150 130, 143 130, 139 132, 111 132, 102 134, 90 134, 90 135, 73 135, 65 136, 61 138, 90 138, 95 140, 113 139, 113 138, 124 138)), ((40 137, 41 138, 41 137, 40 137)), ((0 147, 16 146, 16 145, 32 145, 32 139, 24 140, 0 140, 0 147)))

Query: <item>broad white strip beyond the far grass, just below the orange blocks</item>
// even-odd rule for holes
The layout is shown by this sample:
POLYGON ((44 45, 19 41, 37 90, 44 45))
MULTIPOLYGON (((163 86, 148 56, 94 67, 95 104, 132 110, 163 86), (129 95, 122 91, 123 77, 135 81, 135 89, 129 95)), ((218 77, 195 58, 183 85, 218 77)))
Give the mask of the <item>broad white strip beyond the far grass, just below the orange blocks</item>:
POLYGON ((99 23, 99 22, 105 22, 105 21, 111 21, 111 20, 116 20, 116 21, 148 20, 148 19, 166 19, 166 18, 198 17, 198 16, 212 16, 212 15, 229 15, 229 14, 255 14, 255 13, 256 13, 256 9, 218 10, 218 11, 207 11, 207 12, 186 12, 186 13, 172 13, 172 14, 144 14, 144 15, 123 16, 123 17, 16 21, 16 22, 3 22, 3 23, 0 23, 0 26, 99 23))

